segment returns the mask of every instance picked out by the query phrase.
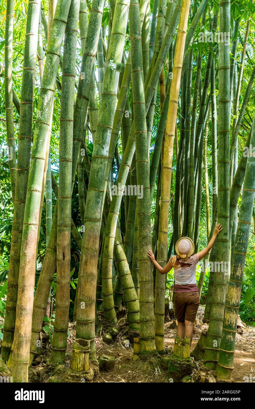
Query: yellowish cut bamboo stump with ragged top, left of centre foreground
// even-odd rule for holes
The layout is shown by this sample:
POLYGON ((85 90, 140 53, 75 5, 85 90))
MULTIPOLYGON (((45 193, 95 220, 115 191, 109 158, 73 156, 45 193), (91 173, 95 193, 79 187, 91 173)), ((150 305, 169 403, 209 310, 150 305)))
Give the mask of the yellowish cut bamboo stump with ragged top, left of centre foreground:
POLYGON ((73 356, 71 369, 76 372, 89 370, 89 346, 90 342, 85 339, 77 338, 73 342, 73 356))

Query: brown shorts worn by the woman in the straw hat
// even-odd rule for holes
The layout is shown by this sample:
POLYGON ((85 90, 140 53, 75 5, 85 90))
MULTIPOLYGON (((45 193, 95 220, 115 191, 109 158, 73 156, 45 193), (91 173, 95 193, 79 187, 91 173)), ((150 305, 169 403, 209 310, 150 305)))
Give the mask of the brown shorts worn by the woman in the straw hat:
POLYGON ((199 292, 175 292, 174 306, 178 322, 194 322, 197 315, 200 299, 199 292))

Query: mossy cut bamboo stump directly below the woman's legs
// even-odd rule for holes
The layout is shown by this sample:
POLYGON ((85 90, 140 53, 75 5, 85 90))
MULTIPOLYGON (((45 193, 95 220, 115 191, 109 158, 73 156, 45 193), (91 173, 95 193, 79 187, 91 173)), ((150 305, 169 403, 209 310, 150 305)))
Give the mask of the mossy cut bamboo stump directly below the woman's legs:
POLYGON ((190 338, 181 339, 179 335, 174 340, 174 352, 170 356, 168 373, 173 382, 180 380, 192 373, 192 360, 190 358, 190 338))

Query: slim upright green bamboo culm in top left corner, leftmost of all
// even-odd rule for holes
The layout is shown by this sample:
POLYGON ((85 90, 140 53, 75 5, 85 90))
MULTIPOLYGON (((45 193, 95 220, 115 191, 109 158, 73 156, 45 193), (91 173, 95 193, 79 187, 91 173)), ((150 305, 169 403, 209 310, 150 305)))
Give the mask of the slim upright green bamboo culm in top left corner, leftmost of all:
POLYGON ((5 20, 5 45, 4 45, 4 96, 7 130, 7 146, 9 149, 9 171, 11 179, 11 196, 15 200, 16 184, 16 152, 13 123, 13 88, 12 88, 12 40, 13 40, 13 14, 14 0, 8 0, 5 20))

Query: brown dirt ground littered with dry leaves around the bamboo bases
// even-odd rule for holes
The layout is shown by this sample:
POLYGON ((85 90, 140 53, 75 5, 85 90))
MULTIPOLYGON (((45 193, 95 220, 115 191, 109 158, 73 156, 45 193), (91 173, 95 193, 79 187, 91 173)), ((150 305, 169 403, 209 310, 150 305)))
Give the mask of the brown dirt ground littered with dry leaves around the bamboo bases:
MULTIPOLYGON (((72 358, 72 341, 75 338, 75 326, 76 323, 69 324, 69 333, 71 335, 69 335, 67 346, 67 367, 69 367, 72 358)), ((193 348, 195 348, 200 334, 205 328, 207 328, 207 325, 202 324, 202 321, 198 320, 198 323, 194 329, 191 351, 193 348)), ((166 369, 162 368, 159 360, 152 360, 152 362, 150 362, 147 366, 145 366, 144 362, 141 360, 133 360, 133 348, 131 344, 127 342, 126 333, 127 327, 125 325, 125 317, 121 317, 121 319, 119 319, 119 335, 114 343, 106 344, 103 342, 103 332, 96 337, 97 356, 100 357, 103 354, 114 356, 115 365, 109 372, 100 371, 100 373, 94 378, 94 382, 169 382, 168 372, 166 369)), ((172 353, 175 335, 176 325, 174 321, 166 322, 164 337, 166 353, 172 353)), ((33 367, 36 370, 38 377, 40 376, 40 372, 43 370, 49 355, 50 346, 47 345, 46 349, 44 350, 44 354, 36 358, 33 367)), ((201 361, 195 362, 193 366, 194 371, 189 382, 196 382, 195 374, 198 370, 204 370, 204 366, 201 361)), ((247 326, 246 328, 243 328, 242 335, 237 333, 234 367, 235 369, 233 370, 231 382, 244 382, 244 377, 247 376, 249 378, 250 374, 255 376, 255 327, 247 326)), ((217 382, 215 371, 208 371, 208 374, 211 379, 210 382, 217 382)), ((51 375, 52 374, 49 373, 49 376, 47 376, 44 382, 56 382, 53 380, 53 378, 56 377, 53 376, 51 379, 51 375)))

